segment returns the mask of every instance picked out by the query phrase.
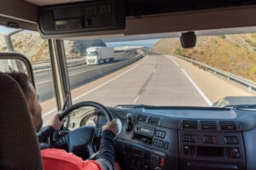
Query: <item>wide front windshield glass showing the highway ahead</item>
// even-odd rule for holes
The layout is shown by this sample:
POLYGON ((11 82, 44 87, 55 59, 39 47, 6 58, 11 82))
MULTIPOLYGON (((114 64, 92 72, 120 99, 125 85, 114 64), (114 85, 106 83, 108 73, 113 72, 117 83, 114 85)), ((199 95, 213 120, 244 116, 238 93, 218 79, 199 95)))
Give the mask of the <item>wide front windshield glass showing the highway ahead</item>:
MULTIPOLYGON (((73 55, 86 41, 72 42, 77 44, 73 55)), ((65 44, 70 49, 71 43, 65 44)), ((103 39, 102 46, 109 49, 102 51, 101 63, 69 70, 73 103, 224 106, 255 101, 255 33, 197 37, 195 48, 187 49, 179 38, 103 39)), ((66 54, 70 55, 68 50, 66 54)))

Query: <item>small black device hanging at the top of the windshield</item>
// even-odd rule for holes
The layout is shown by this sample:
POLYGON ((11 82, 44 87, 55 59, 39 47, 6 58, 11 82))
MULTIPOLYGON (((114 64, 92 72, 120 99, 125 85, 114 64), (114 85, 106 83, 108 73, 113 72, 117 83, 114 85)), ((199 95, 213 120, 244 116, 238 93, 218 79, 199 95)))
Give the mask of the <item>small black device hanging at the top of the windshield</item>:
POLYGON ((183 32, 180 42, 183 48, 194 48, 196 44, 195 31, 183 32))

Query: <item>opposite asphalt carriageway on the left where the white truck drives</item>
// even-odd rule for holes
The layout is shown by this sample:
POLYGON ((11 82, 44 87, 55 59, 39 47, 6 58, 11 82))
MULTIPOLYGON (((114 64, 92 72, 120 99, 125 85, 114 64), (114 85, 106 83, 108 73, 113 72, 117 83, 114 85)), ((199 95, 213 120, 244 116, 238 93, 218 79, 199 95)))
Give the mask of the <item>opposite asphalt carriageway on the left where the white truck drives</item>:
MULTIPOLYGON (((117 65, 127 59, 131 59, 137 56, 137 52, 132 51, 131 53, 126 53, 115 57, 113 62, 105 63, 102 65, 78 65, 74 67, 69 67, 67 69, 68 76, 70 80, 71 89, 78 88, 81 85, 84 85, 86 82, 94 81, 99 76, 88 79, 87 76, 90 72, 98 71, 100 68, 108 67, 111 69, 113 65, 117 65)), ((98 73, 99 74, 99 73, 98 73)), ((104 74, 102 74, 104 76, 104 74)), ((36 87, 38 94, 40 96, 40 102, 44 102, 48 99, 52 99, 55 95, 54 93, 54 83, 51 71, 38 72, 34 75, 36 87)))

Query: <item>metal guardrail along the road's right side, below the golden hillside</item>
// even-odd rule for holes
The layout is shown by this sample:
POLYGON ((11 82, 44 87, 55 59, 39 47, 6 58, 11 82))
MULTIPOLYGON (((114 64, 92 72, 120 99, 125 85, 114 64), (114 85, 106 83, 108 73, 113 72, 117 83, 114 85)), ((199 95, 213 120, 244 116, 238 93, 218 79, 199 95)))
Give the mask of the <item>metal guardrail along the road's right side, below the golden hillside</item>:
POLYGON ((219 74, 223 77, 227 77, 227 80, 233 80, 235 82, 239 82, 240 84, 246 86, 249 90, 253 89, 253 90, 256 90, 256 82, 253 82, 251 80, 247 80, 246 78, 243 78, 243 77, 238 77, 230 72, 227 72, 227 71, 222 71, 216 67, 213 67, 211 65, 206 65, 204 63, 201 63, 200 61, 196 61, 194 59, 189 59, 189 58, 186 58, 186 57, 183 57, 183 56, 180 56, 180 55, 177 55, 177 54, 172 54, 173 56, 176 56, 177 58, 180 58, 180 59, 184 59, 184 60, 187 60, 191 63, 194 63, 196 65, 199 65, 200 67, 203 66, 205 67, 207 70, 210 70, 210 71, 213 71, 215 74, 219 74))

